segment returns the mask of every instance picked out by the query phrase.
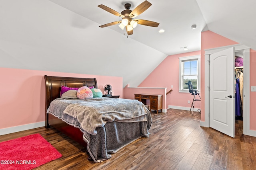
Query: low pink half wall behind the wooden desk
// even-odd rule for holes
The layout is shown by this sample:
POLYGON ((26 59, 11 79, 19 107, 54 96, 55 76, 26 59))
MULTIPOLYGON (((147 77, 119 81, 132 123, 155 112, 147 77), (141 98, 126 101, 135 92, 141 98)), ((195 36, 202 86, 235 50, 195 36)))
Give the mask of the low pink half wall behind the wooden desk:
MULTIPOLYGON (((134 99, 134 94, 162 94, 162 107, 163 109, 168 109, 166 107, 166 88, 134 88, 126 85, 124 87, 124 98, 126 99, 134 99)), ((148 104, 148 103, 147 103, 148 104)))

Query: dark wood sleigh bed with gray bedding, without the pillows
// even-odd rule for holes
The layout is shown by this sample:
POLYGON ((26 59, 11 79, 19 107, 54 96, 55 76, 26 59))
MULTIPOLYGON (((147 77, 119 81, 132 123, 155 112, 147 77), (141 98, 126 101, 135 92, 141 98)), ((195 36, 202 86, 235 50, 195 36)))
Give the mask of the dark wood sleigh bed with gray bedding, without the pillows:
POLYGON ((102 162, 111 158, 112 153, 116 153, 136 139, 149 137, 148 130, 152 124, 150 111, 138 100, 103 97, 84 100, 61 98, 61 86, 70 88, 80 88, 82 86, 98 88, 96 78, 47 75, 44 78, 46 82, 45 127, 54 127, 86 147, 89 160, 102 162), (114 108, 115 105, 123 109, 121 114, 118 109, 114 108), (132 114, 136 116, 127 118, 125 115, 124 117, 126 118, 123 118, 122 115, 126 114, 126 112, 131 112, 129 112, 128 107, 133 105, 136 105, 134 107, 136 109, 132 110, 132 114), (84 111, 78 113, 76 109, 78 107, 84 108, 84 111), (103 112, 96 112, 98 107, 100 108, 98 110, 105 110, 103 112), (98 125, 98 122, 94 123, 90 118, 90 116, 92 117, 97 114, 99 114, 97 117, 101 117, 101 120, 104 117, 102 125, 98 125), (114 116, 114 118, 111 116, 114 116), (85 119, 86 117, 90 119, 85 119), (94 129, 88 129, 88 127, 92 126, 94 129))

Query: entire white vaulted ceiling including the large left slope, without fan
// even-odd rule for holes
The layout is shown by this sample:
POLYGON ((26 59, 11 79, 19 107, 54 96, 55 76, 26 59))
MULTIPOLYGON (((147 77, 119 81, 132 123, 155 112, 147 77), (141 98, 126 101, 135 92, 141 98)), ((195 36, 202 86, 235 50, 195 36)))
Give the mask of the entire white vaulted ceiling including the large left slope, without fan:
POLYGON ((98 5, 120 13, 142 2, 0 0, 0 66, 120 76, 124 86, 138 86, 168 55, 200 50, 201 31, 256 49, 255 0, 149 0, 136 18, 158 27, 138 25, 128 37, 118 25, 99 27, 121 18, 98 5))

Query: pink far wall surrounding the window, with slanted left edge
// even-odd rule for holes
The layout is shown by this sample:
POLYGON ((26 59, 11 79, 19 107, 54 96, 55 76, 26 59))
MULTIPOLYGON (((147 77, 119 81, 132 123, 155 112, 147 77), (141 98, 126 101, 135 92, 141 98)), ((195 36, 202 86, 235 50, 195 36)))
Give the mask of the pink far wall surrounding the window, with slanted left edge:
MULTIPOLYGON (((166 107, 180 106, 191 107, 193 97, 190 93, 179 92, 179 57, 200 55, 200 51, 170 55, 159 64, 159 66, 138 86, 138 87, 166 87, 167 92, 173 90, 171 94, 166 95, 166 107), (173 85, 173 88, 171 88, 173 85), (190 100, 190 104, 188 104, 190 100)), ((201 95, 201 94, 200 94, 201 95)), ((196 96, 198 99, 199 97, 196 96)), ((195 108, 200 108, 200 102, 195 102, 195 108)))

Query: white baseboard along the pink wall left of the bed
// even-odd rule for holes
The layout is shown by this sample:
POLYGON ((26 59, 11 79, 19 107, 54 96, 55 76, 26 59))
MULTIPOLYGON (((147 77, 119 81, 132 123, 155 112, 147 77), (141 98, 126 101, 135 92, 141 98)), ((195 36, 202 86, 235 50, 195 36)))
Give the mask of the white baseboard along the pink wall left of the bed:
POLYGON ((15 127, 8 127, 8 128, 0 129, 0 135, 6 135, 9 133, 26 131, 29 129, 35 129, 35 128, 44 127, 44 126, 45 126, 45 121, 41 121, 41 122, 37 122, 37 123, 30 123, 30 124, 26 124, 26 125, 15 126, 15 127))

